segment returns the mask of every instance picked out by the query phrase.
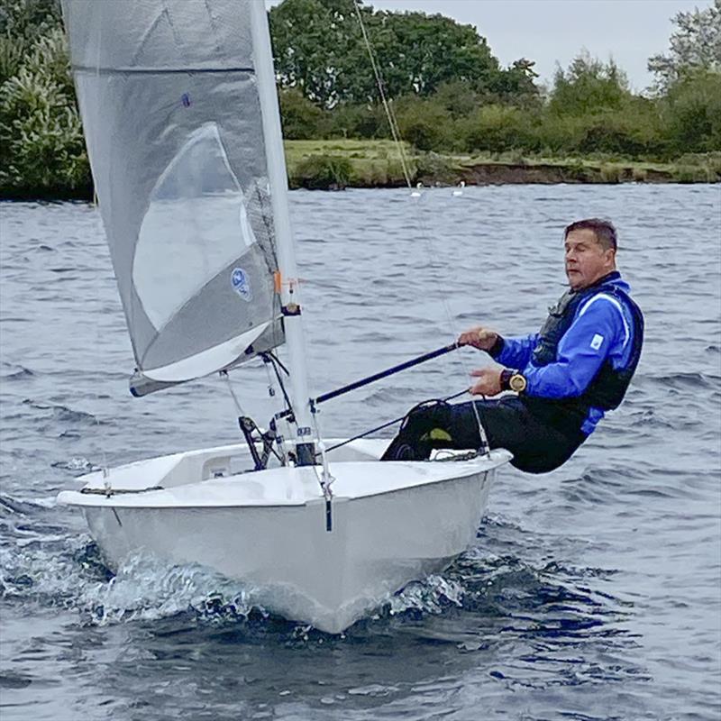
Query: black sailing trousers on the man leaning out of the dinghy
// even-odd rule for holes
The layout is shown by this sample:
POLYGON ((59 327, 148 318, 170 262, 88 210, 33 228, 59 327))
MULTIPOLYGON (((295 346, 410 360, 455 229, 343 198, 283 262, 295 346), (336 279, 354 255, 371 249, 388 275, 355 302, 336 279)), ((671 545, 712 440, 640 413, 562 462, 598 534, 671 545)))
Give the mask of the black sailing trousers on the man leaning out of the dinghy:
POLYGON ((561 432, 534 415, 516 396, 457 404, 432 401, 416 406, 406 415, 381 460, 421 461, 434 448, 479 448, 474 405, 490 448, 512 452, 511 464, 525 473, 557 469, 587 437, 580 431, 561 432))

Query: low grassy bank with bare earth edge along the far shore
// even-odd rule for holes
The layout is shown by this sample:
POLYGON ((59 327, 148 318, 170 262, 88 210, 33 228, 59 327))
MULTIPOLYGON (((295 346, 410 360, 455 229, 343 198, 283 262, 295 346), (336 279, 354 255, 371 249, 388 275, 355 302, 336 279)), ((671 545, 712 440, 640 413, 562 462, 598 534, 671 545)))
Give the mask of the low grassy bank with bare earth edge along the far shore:
MULTIPOLYGON (((543 158, 420 153, 404 146, 411 182, 424 185, 521 183, 717 183, 721 153, 682 156, 673 162, 622 158, 543 158)), ((291 187, 401 187, 400 152, 392 141, 286 141, 291 187)))

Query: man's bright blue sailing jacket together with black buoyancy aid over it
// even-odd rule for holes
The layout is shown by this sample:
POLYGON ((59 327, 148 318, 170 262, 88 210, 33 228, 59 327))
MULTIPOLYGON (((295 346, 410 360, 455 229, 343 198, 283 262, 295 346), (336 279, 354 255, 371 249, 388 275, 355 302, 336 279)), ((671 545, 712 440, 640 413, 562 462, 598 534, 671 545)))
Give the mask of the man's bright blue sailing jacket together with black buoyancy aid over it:
POLYGON ((620 404, 643 343, 643 315, 629 293, 614 271, 564 294, 540 333, 500 339, 492 355, 524 374, 521 397, 532 412, 588 435, 620 404))

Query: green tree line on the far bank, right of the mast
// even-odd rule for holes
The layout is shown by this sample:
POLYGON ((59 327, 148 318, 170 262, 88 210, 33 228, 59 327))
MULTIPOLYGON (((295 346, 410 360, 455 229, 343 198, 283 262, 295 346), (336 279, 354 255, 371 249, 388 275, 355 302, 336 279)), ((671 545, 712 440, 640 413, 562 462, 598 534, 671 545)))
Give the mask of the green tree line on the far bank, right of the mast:
POLYGON ((502 68, 475 28, 440 15, 285 0, 269 18, 287 138, 390 137, 380 80, 402 137, 419 150, 655 160, 721 151, 721 0, 676 15, 643 95, 613 61, 586 52, 541 87, 532 60, 502 68))

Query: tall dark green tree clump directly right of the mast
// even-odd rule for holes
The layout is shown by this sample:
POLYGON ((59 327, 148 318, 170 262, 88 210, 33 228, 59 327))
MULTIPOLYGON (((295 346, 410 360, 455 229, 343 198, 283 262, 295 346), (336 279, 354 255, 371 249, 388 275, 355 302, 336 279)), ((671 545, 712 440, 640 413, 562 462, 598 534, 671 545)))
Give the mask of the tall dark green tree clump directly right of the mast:
POLYGON ((269 12, 278 83, 317 105, 379 101, 377 78, 358 21, 365 26, 388 97, 431 96, 461 81, 474 91, 528 86, 518 65, 499 68, 475 28, 443 15, 388 13, 353 0, 285 0, 269 12))

